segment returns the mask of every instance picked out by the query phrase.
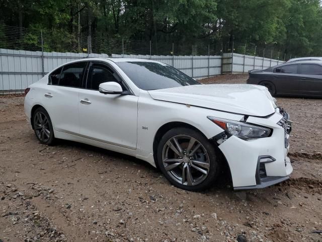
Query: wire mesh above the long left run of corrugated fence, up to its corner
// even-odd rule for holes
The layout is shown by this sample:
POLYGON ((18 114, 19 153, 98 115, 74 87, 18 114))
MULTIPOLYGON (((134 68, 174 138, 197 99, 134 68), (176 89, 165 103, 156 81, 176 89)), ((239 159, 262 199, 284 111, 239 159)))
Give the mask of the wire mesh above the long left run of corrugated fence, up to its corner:
POLYGON ((221 55, 223 43, 171 43, 125 38, 83 36, 63 31, 26 29, 0 25, 0 48, 13 50, 140 54, 140 55, 221 55))

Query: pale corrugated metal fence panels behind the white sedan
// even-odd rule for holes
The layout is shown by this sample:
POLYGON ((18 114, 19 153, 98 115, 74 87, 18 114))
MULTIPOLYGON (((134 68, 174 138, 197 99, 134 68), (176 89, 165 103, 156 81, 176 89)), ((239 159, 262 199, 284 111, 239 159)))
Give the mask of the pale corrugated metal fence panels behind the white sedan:
POLYGON ((95 53, 61 53, 0 49, 0 94, 21 93, 56 67, 86 57, 129 57, 154 59, 173 66, 190 77, 205 78, 227 72, 247 72, 282 62, 250 55, 128 55, 95 53))

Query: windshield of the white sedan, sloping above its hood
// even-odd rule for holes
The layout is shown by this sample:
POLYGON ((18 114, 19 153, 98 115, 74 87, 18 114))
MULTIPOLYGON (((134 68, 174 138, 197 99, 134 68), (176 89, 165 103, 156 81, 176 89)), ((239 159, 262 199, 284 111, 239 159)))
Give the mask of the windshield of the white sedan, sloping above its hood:
POLYGON ((196 80, 166 64, 154 62, 116 63, 140 89, 155 90, 200 84, 196 80))

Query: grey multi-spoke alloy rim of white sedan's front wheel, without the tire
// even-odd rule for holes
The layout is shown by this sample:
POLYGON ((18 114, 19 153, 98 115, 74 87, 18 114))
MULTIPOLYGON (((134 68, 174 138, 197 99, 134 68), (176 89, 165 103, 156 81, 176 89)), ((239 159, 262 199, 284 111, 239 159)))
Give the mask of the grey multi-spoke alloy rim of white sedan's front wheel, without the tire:
POLYGON ((166 142, 162 162, 174 180, 187 186, 202 183, 210 169, 210 159, 205 147, 188 135, 177 135, 166 142))

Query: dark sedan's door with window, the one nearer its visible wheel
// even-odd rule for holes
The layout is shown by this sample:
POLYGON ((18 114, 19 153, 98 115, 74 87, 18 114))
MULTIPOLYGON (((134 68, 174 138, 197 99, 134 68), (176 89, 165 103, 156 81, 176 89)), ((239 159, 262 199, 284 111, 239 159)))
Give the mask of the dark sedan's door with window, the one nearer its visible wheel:
POLYGON ((298 65, 290 64, 274 69, 273 83, 277 93, 295 94, 299 90, 300 76, 298 65))

